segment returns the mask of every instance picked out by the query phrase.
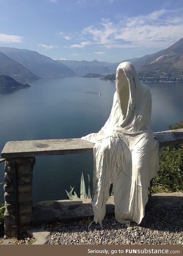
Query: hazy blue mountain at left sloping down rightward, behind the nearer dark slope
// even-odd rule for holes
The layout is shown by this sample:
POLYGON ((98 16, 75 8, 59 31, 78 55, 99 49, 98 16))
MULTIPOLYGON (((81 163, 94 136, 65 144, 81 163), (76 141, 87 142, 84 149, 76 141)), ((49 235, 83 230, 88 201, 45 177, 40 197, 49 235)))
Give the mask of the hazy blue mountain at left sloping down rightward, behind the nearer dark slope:
POLYGON ((35 51, 11 47, 0 47, 0 51, 21 63, 37 76, 76 76, 74 71, 64 63, 35 51))

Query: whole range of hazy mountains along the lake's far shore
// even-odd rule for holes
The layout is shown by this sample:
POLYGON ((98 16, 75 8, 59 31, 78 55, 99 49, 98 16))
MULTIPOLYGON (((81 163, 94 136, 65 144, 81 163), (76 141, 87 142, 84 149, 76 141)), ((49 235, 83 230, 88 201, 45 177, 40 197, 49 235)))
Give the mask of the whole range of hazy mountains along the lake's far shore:
POLYGON ((183 81, 183 38, 167 49, 117 63, 53 60, 35 51, 10 47, 0 47, 0 52, 0 74, 19 81, 42 76, 85 76, 88 73, 106 76, 116 73, 121 62, 133 63, 141 81, 183 81))

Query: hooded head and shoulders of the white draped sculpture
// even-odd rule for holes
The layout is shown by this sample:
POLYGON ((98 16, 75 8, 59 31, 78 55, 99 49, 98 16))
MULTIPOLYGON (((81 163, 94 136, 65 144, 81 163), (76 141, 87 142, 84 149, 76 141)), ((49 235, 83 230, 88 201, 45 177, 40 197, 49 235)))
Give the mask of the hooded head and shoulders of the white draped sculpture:
POLYGON ((116 105, 113 112, 116 116, 115 126, 120 125, 131 132, 150 127, 151 94, 149 88, 138 79, 135 67, 130 62, 120 63, 117 67, 116 97, 112 107, 116 105), (117 104, 114 104, 115 101, 117 104))

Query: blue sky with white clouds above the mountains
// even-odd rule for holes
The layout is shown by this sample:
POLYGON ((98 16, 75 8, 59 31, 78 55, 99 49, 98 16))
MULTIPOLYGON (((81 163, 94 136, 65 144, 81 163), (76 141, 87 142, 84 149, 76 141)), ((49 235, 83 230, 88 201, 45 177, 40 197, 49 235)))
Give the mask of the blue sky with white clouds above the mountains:
POLYGON ((182 0, 0 0, 0 46, 120 62, 183 37, 182 0))

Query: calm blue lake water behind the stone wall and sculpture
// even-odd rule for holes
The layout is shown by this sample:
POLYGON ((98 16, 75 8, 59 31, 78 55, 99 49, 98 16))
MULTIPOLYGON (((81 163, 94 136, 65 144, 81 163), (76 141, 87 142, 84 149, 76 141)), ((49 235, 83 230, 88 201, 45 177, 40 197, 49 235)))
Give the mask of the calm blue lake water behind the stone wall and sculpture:
MULTIPOLYGON (((115 84, 99 78, 42 78, 30 88, 0 91, 0 151, 7 141, 80 138, 97 132, 109 117, 115 84), (101 96, 98 95, 101 93, 101 96)), ((147 83, 152 94, 152 130, 168 130, 183 120, 183 83, 147 83)), ((66 190, 80 192, 83 172, 92 183, 90 153, 36 158, 33 200, 66 199, 66 190)), ((4 163, 0 164, 0 183, 4 163)), ((92 184, 91 184, 92 186, 92 184)), ((0 185, 0 202, 3 185, 0 185)))

